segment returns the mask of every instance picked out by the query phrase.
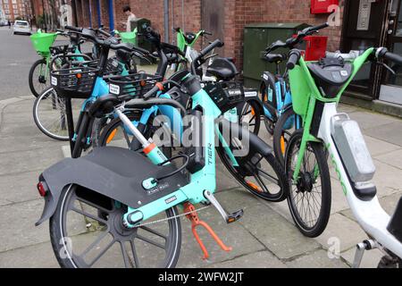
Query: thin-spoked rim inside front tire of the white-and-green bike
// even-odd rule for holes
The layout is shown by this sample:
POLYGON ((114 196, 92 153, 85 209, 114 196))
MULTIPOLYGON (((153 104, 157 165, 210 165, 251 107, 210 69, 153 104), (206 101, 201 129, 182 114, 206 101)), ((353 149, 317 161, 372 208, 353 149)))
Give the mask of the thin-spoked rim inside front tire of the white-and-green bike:
POLYGON ((292 180, 299 153, 300 140, 295 146, 291 150, 291 156, 289 157, 289 198, 298 222, 302 223, 302 227, 308 231, 314 229, 321 214, 322 177, 314 149, 307 143, 303 163, 300 167, 299 178, 297 181, 292 180))

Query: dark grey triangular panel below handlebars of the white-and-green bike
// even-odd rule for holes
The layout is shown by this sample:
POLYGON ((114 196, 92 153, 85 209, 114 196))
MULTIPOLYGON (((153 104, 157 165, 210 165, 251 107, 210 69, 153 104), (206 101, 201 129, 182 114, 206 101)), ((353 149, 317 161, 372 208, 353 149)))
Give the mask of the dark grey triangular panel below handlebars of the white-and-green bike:
POLYGON ((307 66, 315 83, 322 89, 322 96, 329 98, 338 95, 339 90, 349 80, 353 72, 353 65, 351 63, 327 65, 308 63, 307 66))

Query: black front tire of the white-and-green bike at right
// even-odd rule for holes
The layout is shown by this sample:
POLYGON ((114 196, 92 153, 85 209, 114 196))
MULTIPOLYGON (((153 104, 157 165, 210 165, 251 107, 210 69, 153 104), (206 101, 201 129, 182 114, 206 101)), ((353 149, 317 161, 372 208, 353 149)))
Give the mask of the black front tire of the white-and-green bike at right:
MULTIPOLYGON (((297 185, 296 185, 296 189, 294 189, 295 184, 293 183, 292 180, 292 176, 293 176, 293 172, 292 172, 292 168, 291 168, 291 164, 294 163, 296 160, 295 158, 293 158, 293 155, 298 155, 298 152, 295 153, 295 147, 298 147, 301 139, 303 137, 303 130, 297 130, 295 133, 293 133, 293 135, 291 136, 291 138, 289 139, 289 145, 286 149, 286 155, 285 155, 285 172, 288 176, 288 180, 289 180, 289 197, 288 197, 288 206, 289 206, 289 210, 290 210, 290 214, 294 220, 294 222, 296 223, 297 229, 303 233, 306 237, 309 238, 315 238, 319 235, 322 234, 322 231, 325 230, 328 221, 330 219, 330 214, 331 214, 331 176, 330 176, 330 171, 329 171, 329 167, 328 167, 328 163, 327 163, 327 156, 326 153, 324 151, 324 147, 322 145, 321 142, 307 142, 307 147, 306 150, 308 150, 309 147, 311 147, 314 156, 316 158, 316 164, 314 163, 314 172, 315 172, 315 166, 318 167, 318 172, 320 174, 320 182, 321 182, 321 206, 320 206, 320 210, 318 212, 317 218, 316 218, 316 222, 314 223, 314 225, 310 226, 306 224, 306 220, 302 217, 303 214, 306 214, 307 220, 308 220, 308 207, 310 206, 316 206, 316 203, 318 203, 317 200, 314 201, 314 194, 312 194, 313 189, 310 189, 310 183, 313 182, 313 175, 312 172, 310 172, 310 170, 306 171, 306 165, 304 164, 309 164, 309 162, 304 162, 302 168, 304 169, 303 171, 300 170, 300 179, 299 181, 297 181, 297 185), (304 187, 307 186, 307 187, 304 187), (296 190, 297 196, 300 194, 300 192, 302 193, 302 198, 298 198, 298 200, 296 201, 296 196, 294 196, 294 190, 296 190), (312 204, 310 204, 310 202, 307 202, 307 206, 306 209, 304 208, 304 199, 305 199, 305 194, 306 198, 308 198, 308 192, 310 193, 310 198, 313 197, 313 202, 312 204), (301 204, 301 211, 299 211, 299 209, 297 208, 297 203, 302 200, 301 204)), ((306 154, 305 154, 305 160, 309 161, 310 157, 307 156, 306 159, 306 154)), ((301 169, 302 169, 301 168, 301 169)), ((315 178, 315 181, 317 181, 317 178, 315 178)), ((313 187, 311 187, 313 188, 313 187)), ((311 215, 311 211, 309 212, 309 214, 311 215)), ((317 212, 314 211, 314 214, 317 214, 317 212)), ((310 216, 310 218, 312 218, 312 216, 310 216)), ((308 222, 307 222, 308 223, 308 222)))

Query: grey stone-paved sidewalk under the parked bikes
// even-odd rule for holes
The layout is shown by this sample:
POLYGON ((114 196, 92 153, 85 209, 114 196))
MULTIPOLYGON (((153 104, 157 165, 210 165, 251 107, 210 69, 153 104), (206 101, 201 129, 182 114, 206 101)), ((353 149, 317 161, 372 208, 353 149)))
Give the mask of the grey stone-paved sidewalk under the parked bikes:
MULTIPOLYGON (((49 243, 48 223, 34 226, 44 205, 36 183, 40 172, 63 158, 66 143, 49 139, 38 130, 32 119, 33 101, 33 97, 0 101, 0 267, 58 267, 49 243)), ((348 105, 340 110, 360 123, 377 167, 374 181, 381 205, 392 214, 402 196, 402 121, 348 105)), ((231 210, 243 208, 245 215, 239 223, 226 225, 210 207, 200 217, 233 250, 223 252, 200 231, 211 254, 210 260, 203 261, 190 224, 183 219, 179 267, 348 267, 356 243, 366 239, 333 171, 331 220, 315 240, 297 231, 286 202, 269 204, 253 197, 222 165, 218 176, 217 198, 231 210), (330 259, 327 249, 333 241, 340 242, 341 254, 330 259)), ((363 266, 375 267, 380 257, 379 251, 366 252, 363 266)))

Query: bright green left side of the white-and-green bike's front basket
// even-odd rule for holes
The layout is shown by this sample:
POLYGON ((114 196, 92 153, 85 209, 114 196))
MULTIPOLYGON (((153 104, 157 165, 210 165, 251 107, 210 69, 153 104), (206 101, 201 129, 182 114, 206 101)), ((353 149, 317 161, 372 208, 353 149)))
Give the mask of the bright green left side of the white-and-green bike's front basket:
POLYGON ((289 71, 289 82, 293 110, 296 114, 304 117, 312 91, 308 86, 306 76, 300 66, 297 65, 293 70, 289 71))

